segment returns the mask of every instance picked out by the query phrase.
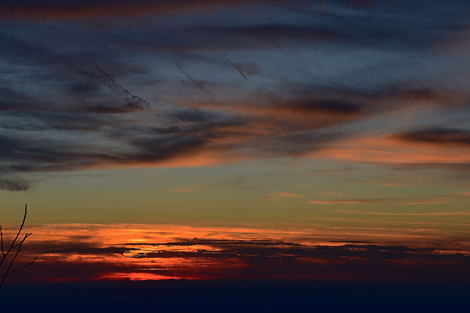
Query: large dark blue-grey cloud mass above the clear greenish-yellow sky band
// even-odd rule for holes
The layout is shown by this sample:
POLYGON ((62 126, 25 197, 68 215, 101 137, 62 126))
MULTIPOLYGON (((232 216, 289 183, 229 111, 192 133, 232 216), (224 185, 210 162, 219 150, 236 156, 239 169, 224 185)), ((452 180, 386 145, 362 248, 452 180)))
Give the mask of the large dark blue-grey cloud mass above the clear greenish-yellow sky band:
MULTIPOLYGON (((327 5, 2 2, 0 188, 28 189, 22 172, 298 158, 352 134, 333 126, 467 105, 436 77, 469 73, 435 51, 465 29, 467 2, 327 5)), ((432 131, 396 136, 467 145, 432 131)))

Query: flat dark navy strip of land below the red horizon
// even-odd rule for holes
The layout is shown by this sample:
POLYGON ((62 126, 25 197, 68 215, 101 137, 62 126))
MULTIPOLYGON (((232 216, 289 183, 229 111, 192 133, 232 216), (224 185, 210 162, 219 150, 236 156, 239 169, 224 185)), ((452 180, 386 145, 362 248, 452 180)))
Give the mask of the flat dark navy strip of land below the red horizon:
POLYGON ((469 312, 469 295, 470 283, 171 279, 6 284, 0 301, 2 312, 469 312))

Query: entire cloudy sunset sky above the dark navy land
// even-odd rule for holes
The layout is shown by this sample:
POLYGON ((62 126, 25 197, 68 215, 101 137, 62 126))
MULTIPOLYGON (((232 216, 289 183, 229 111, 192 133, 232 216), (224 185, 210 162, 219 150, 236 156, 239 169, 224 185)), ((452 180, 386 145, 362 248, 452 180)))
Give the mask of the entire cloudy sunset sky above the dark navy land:
POLYGON ((464 0, 2 1, 16 280, 470 282, 469 35, 464 0))

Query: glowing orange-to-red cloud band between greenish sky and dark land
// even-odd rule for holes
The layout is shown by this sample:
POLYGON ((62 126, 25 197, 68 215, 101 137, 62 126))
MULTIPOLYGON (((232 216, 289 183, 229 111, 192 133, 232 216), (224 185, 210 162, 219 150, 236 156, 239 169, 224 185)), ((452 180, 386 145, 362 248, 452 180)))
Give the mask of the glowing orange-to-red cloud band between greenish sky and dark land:
MULTIPOLYGON (((439 214, 465 215, 464 212, 428 215, 439 214)), ((344 267, 345 272, 357 275, 356 279, 360 280, 364 273, 368 273, 368 264, 381 264, 389 270, 391 254, 396 254, 395 259, 407 258, 411 263, 428 264, 426 262, 432 259, 444 266, 451 258, 452 264, 457 260, 458 264, 468 268, 469 257, 465 255, 470 252, 470 247, 466 237, 456 237, 453 230, 443 232, 429 226, 423 229, 418 224, 390 229, 326 227, 321 224, 315 228, 271 223, 227 227, 205 224, 30 226, 27 230, 33 235, 22 258, 29 260, 31 255, 39 258, 34 267, 26 274, 18 272, 15 279, 28 282, 169 278, 331 279, 331 273, 338 273, 337 268, 344 267), (390 248, 390 245, 397 244, 401 247, 390 248), (404 248, 407 244, 426 249, 404 248), (436 245, 439 249, 432 248, 436 245), (326 273, 330 274, 313 275, 320 265, 320 272, 327 270, 326 273), (358 266, 364 267, 365 271, 358 270, 358 266)), ((5 236, 12 235, 8 232, 5 236)), ((19 263, 23 259, 18 260, 19 263)), ((377 275, 381 279, 384 277, 381 271, 377 275)))

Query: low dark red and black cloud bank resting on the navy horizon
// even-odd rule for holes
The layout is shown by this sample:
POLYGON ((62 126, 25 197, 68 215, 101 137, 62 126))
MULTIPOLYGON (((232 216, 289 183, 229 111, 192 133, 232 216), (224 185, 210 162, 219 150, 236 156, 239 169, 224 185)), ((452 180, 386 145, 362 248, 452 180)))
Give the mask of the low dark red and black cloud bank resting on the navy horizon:
MULTIPOLYGON (((217 236, 213 229, 212 236, 217 236)), ((39 242, 37 242, 39 243, 39 242)), ((469 255, 435 247, 335 241, 334 244, 294 244, 274 240, 186 239, 166 243, 135 243, 67 248, 48 244, 29 250, 38 256, 35 270, 16 282, 93 281, 120 279, 302 279, 352 281, 420 281, 427 275, 468 279, 469 255), (416 271, 419 268, 419 271, 416 271), (393 275, 390 275, 390 273, 393 275), (400 273, 397 275, 396 273, 400 273)), ((26 260, 26 259, 25 259, 26 260)), ((429 279, 429 277, 428 277, 429 279)), ((439 278, 440 279, 440 278, 439 278)))

